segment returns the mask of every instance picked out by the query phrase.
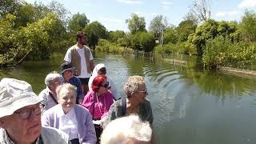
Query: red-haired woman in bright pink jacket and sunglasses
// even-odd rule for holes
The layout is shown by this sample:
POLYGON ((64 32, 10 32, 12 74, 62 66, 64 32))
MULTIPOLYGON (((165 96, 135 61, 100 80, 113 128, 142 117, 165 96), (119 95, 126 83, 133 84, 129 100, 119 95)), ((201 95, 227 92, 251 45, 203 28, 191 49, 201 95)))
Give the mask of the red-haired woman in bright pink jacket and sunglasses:
POLYGON ((82 102, 82 106, 85 106, 93 117, 97 138, 102 134, 101 124, 113 104, 113 95, 108 87, 109 82, 106 81, 105 76, 95 77, 92 82, 92 90, 86 94, 82 102))

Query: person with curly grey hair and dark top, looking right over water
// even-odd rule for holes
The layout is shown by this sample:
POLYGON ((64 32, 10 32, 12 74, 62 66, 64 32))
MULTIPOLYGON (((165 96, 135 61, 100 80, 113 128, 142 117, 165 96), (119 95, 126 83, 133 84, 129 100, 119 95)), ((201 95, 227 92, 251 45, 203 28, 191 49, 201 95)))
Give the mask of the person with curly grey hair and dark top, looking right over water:
POLYGON ((120 118, 130 114, 138 114, 142 121, 153 123, 153 114, 150 102, 146 99, 147 91, 145 80, 142 76, 131 76, 123 86, 126 97, 114 102, 110 107, 109 113, 106 117, 106 124, 115 118, 120 118))

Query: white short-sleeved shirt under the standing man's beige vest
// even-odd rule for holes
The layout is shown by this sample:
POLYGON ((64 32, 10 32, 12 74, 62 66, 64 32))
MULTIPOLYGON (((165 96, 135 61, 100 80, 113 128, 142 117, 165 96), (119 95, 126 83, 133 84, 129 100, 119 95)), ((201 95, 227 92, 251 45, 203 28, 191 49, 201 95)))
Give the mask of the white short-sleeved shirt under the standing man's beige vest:
MULTIPOLYGON (((71 49, 73 46, 70 47, 69 50, 66 51, 66 55, 64 57, 64 61, 71 62, 71 49)), ((75 50, 78 51, 78 54, 80 56, 80 64, 81 64, 81 73, 77 76, 77 78, 90 78, 91 73, 89 74, 87 72, 87 66, 86 66, 86 57, 85 57, 85 49, 80 49, 77 45, 75 45, 75 50)), ((93 54, 90 52, 90 61, 94 59, 93 54)))

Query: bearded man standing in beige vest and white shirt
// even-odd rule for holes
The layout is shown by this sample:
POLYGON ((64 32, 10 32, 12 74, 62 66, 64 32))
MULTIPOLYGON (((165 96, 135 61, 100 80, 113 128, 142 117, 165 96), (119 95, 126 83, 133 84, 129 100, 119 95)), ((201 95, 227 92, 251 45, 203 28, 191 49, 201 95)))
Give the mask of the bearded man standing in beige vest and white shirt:
POLYGON ((76 77, 82 83, 83 95, 86 95, 88 89, 88 82, 91 72, 94 70, 94 57, 90 52, 90 48, 86 45, 86 34, 78 31, 77 44, 71 46, 66 51, 64 60, 70 62, 76 68, 76 77))

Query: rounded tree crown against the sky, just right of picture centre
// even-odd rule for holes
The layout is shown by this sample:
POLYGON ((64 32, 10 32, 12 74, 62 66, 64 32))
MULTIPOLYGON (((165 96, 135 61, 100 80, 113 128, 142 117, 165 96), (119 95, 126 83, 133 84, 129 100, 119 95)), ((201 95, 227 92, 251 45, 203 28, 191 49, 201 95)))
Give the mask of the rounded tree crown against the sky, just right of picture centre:
POLYGON ((128 29, 131 34, 135 34, 137 32, 146 31, 146 22, 144 17, 138 17, 137 14, 131 14, 130 19, 126 19, 126 23, 128 23, 128 29))

